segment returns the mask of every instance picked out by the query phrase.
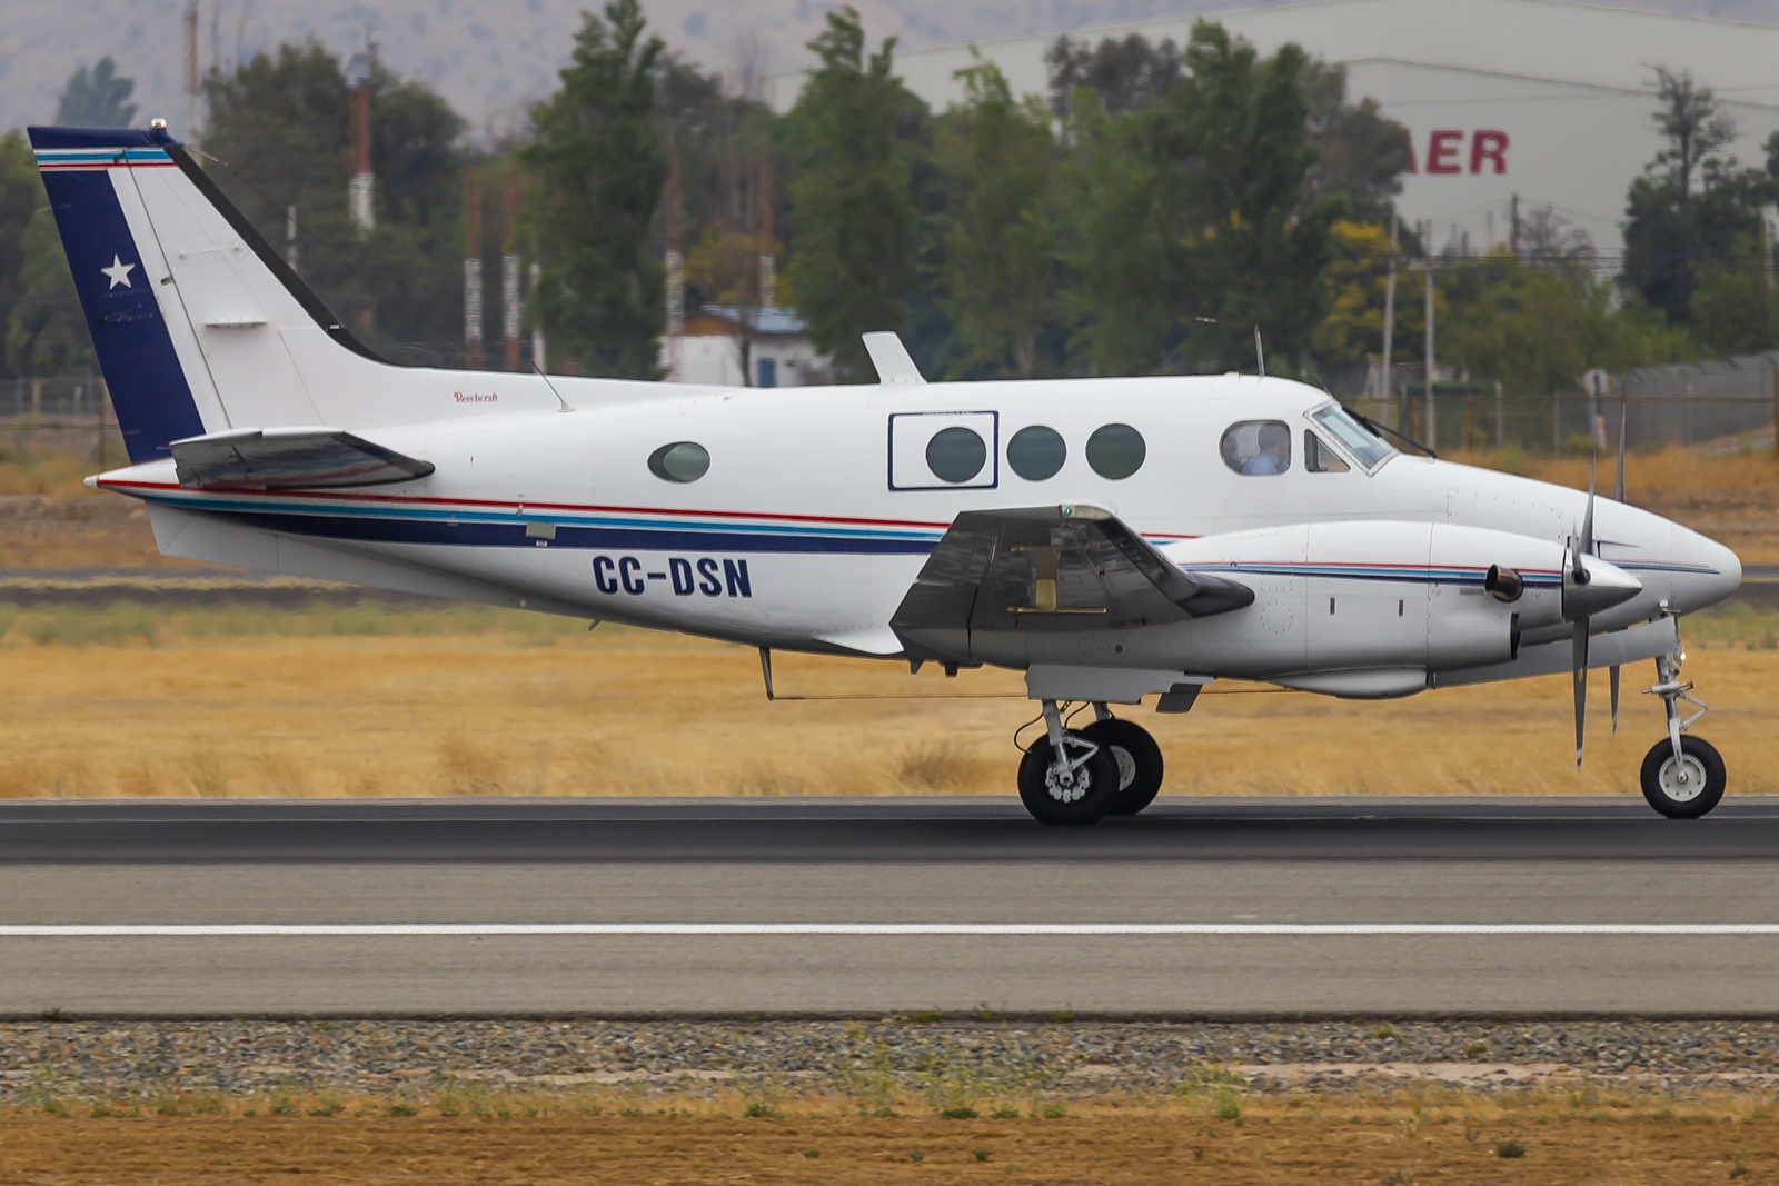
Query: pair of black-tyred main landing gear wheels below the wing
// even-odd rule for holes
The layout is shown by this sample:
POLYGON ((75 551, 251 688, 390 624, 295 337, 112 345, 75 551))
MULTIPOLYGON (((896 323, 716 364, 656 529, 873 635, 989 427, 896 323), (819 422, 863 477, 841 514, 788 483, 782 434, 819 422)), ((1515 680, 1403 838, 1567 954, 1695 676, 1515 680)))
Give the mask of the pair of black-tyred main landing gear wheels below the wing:
POLYGON ((1162 749, 1142 725, 1094 704, 1096 720, 1066 729, 1044 701, 1044 736, 1019 761, 1019 800, 1039 823, 1098 823, 1133 816, 1162 789, 1162 749))

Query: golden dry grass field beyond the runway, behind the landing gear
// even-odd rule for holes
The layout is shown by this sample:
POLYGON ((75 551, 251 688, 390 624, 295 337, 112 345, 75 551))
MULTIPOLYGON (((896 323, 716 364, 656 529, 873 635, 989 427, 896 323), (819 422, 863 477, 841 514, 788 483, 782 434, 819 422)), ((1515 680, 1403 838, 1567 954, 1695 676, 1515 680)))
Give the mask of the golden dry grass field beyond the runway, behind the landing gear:
MULTIPOLYGON (((1779 613, 1683 635, 1731 793, 1779 793, 1779 613)), ((1185 717, 1124 711, 1167 793, 1633 795, 1662 733, 1651 667, 1626 670, 1615 738, 1596 672, 1582 773, 1566 676, 1372 704, 1215 685, 1185 717)), ((769 704, 747 647, 503 610, 0 608, 0 797, 1012 789, 1014 672, 781 654, 776 683, 852 699, 769 704)))

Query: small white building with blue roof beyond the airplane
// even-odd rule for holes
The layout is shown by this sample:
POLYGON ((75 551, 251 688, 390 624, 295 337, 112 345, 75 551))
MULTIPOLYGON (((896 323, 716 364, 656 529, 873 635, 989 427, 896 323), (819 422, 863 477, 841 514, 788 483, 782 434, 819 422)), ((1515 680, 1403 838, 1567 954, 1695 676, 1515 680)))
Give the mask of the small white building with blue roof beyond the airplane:
POLYGON ((767 306, 749 309, 749 317, 753 333, 744 334, 742 315, 733 306, 706 304, 687 315, 678 334, 662 338, 667 381, 726 388, 809 388, 833 382, 833 357, 817 352, 808 329, 792 309, 767 306), (745 370, 744 354, 749 356, 745 370))

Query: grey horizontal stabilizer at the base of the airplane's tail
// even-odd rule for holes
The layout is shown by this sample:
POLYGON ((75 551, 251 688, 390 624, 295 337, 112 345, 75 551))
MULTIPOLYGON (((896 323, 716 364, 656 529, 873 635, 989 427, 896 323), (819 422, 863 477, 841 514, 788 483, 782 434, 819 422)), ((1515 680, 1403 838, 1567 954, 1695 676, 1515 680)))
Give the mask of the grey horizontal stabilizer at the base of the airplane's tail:
POLYGON ((409 482, 431 461, 352 436, 345 429, 237 429, 173 443, 180 485, 249 491, 326 489, 409 482))

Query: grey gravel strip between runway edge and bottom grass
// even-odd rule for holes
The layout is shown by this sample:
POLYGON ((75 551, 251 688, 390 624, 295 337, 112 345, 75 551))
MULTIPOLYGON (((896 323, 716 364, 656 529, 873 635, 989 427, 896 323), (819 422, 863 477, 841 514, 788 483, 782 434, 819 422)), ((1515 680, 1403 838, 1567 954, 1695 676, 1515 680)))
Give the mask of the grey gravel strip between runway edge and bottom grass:
POLYGON ((169 1090, 487 1088, 886 1095, 1260 1092, 1402 1081, 1642 1090, 1779 1085, 1775 1022, 21 1022, 0 1102, 169 1090), (1233 1076, 1233 1078, 1231 1078, 1233 1076))

